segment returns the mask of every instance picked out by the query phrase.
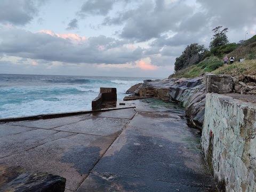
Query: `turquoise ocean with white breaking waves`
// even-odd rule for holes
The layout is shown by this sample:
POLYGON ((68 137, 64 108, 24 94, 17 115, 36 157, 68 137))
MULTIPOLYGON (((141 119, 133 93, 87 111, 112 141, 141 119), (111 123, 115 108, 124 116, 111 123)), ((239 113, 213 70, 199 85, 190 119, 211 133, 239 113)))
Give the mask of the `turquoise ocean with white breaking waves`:
POLYGON ((91 110, 100 87, 115 87, 117 99, 141 77, 0 74, 0 118, 91 110))

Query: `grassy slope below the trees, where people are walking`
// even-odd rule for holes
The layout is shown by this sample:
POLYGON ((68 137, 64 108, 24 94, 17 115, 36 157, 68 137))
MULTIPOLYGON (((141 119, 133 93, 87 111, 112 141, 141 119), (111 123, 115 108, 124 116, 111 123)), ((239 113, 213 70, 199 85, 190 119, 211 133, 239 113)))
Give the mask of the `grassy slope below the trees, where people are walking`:
POLYGON ((228 57, 234 55, 235 60, 233 65, 223 66, 222 59, 211 56, 199 62, 197 65, 189 66, 186 69, 177 71, 175 74, 169 76, 193 78, 197 77, 204 72, 211 72, 214 74, 229 74, 237 76, 239 74, 255 75, 256 71, 256 35, 247 39, 236 50, 228 54, 228 57), (245 58, 244 62, 238 62, 240 58, 245 58), (250 59, 250 60, 248 60, 250 59), (216 70, 215 70, 216 69, 216 70))

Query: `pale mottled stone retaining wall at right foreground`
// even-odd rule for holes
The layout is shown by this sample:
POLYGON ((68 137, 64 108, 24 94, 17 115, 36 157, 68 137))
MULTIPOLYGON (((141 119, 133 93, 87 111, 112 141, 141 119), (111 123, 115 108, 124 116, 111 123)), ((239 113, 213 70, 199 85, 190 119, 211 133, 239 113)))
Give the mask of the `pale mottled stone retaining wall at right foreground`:
POLYGON ((256 105, 206 94, 201 144, 222 191, 256 191, 256 105))

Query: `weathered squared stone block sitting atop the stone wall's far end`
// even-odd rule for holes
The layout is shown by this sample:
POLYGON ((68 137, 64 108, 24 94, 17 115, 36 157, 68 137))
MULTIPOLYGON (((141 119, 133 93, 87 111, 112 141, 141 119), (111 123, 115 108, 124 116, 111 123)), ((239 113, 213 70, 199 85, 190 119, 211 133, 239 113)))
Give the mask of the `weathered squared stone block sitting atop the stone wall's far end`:
POLYGON ((206 92, 230 93, 233 88, 233 78, 230 75, 205 74, 206 92))

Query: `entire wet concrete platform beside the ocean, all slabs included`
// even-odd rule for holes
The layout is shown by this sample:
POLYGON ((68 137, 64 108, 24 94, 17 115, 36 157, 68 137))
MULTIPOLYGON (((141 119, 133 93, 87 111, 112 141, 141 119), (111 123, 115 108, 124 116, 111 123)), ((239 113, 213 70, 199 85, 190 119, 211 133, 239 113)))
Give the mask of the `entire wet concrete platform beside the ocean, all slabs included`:
POLYGON ((218 191, 185 111, 136 108, 0 124, 0 163, 67 179, 65 191, 218 191))

